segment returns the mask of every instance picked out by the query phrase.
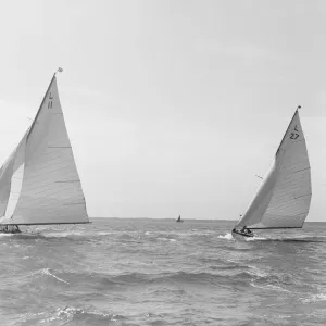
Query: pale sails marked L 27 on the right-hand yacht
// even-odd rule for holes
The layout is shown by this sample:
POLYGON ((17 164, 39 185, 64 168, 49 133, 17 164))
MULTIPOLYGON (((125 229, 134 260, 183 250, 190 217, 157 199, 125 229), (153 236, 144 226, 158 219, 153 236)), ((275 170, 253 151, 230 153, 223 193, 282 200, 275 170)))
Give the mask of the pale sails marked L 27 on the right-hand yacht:
POLYGON ((236 227, 300 228, 311 196, 310 164, 297 109, 272 167, 236 227))

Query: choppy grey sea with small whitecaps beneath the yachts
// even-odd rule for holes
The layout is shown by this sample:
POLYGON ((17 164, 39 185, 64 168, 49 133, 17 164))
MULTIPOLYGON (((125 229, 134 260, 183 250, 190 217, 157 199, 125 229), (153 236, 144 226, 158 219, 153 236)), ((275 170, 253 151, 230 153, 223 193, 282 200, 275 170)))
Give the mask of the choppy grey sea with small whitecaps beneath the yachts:
POLYGON ((326 325, 326 223, 91 222, 0 235, 0 325, 326 325))

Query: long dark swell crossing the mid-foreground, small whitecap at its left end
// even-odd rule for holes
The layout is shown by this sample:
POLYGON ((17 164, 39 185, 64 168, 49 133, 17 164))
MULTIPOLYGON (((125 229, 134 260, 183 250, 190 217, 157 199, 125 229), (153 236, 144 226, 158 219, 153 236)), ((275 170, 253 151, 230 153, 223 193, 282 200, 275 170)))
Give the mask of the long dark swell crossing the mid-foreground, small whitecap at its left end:
POLYGON ((54 272, 42 268, 34 276, 46 275, 53 279, 70 284, 71 286, 82 286, 83 284, 99 290, 116 287, 123 289, 129 286, 143 286, 162 283, 179 284, 211 284, 211 285, 249 285, 255 281, 256 285, 298 285, 300 281, 292 275, 272 274, 252 266, 206 266, 202 272, 171 272, 171 273, 126 273, 120 275, 108 275, 102 273, 66 273, 54 272))

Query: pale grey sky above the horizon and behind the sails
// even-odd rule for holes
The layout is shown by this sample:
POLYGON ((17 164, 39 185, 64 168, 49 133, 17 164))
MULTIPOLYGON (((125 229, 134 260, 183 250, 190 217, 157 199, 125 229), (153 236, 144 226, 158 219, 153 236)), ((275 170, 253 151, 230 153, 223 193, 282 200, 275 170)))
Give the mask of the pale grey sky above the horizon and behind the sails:
POLYGON ((1 1, 0 162, 52 74, 91 217, 238 220, 300 104, 326 212, 326 2, 1 1))

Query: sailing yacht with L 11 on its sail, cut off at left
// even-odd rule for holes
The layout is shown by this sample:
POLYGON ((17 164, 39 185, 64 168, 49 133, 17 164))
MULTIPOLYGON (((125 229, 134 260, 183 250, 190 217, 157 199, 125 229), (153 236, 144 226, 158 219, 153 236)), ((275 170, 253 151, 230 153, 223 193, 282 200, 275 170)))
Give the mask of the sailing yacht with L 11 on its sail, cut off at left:
POLYGON ((89 223, 55 74, 30 127, 0 168, 0 231, 89 223))

